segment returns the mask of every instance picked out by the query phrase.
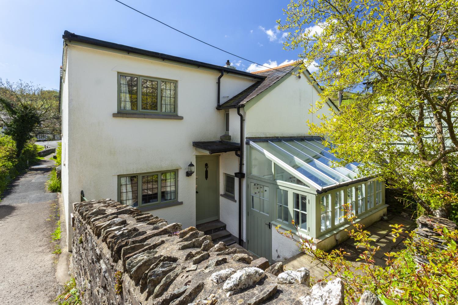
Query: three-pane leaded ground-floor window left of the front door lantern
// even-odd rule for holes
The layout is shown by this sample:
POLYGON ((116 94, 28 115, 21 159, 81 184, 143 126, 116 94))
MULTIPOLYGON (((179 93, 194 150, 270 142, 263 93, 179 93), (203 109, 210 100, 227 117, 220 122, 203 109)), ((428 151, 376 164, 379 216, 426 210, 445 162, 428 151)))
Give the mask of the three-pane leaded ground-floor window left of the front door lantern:
POLYGON ((176 171, 164 171, 118 177, 119 201, 139 207, 175 201, 177 198, 176 171))

